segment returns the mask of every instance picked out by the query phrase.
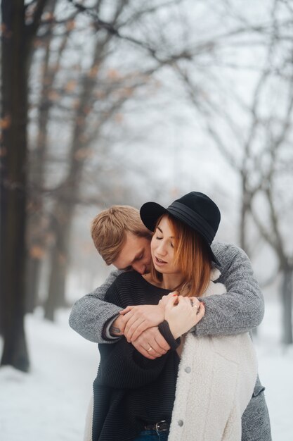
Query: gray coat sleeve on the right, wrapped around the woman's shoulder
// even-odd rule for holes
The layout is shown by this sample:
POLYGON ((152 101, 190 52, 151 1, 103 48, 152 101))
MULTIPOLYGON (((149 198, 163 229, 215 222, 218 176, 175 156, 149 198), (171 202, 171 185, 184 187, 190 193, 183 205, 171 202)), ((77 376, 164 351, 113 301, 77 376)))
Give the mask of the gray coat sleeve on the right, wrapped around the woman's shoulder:
POLYGON ((219 282, 226 294, 205 297, 205 315, 195 326, 196 335, 233 335, 258 326, 264 313, 259 283, 245 251, 235 245, 217 243, 213 247, 222 263, 219 282))

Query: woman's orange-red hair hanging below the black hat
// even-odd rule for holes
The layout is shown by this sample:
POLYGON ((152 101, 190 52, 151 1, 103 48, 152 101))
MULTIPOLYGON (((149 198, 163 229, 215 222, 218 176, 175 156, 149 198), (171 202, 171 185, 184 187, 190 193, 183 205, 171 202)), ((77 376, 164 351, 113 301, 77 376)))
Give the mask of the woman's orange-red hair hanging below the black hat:
MULTIPOLYGON (((184 280, 177 290, 182 292, 187 290, 188 296, 200 297, 209 285, 211 273, 209 248, 199 233, 169 214, 159 218, 156 228, 164 216, 167 216, 174 234, 174 263, 178 264, 184 280)), ((155 270, 153 263, 151 263, 151 273, 156 282, 162 282, 162 274, 155 270)))

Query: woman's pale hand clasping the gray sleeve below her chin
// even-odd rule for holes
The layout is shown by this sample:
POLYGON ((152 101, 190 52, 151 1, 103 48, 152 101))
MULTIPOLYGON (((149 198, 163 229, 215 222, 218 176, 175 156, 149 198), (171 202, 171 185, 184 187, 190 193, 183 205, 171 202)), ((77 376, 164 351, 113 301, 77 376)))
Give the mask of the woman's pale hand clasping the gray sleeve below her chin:
POLYGON ((178 338, 193 328, 204 316, 204 304, 196 297, 168 295, 164 299, 164 319, 174 338, 178 338))

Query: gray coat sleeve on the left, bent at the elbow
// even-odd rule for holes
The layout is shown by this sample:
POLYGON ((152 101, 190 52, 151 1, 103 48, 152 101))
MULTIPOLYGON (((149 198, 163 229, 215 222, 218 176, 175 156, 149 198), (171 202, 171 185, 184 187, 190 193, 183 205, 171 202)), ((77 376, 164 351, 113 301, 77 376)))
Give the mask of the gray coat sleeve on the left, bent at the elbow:
POLYGON ((112 303, 104 302, 105 293, 112 282, 122 271, 112 271, 108 279, 95 291, 86 294, 82 299, 77 300, 72 306, 69 324, 77 333, 96 343, 110 343, 116 341, 105 340, 103 333, 104 325, 111 318, 114 318, 122 311, 122 308, 112 303))

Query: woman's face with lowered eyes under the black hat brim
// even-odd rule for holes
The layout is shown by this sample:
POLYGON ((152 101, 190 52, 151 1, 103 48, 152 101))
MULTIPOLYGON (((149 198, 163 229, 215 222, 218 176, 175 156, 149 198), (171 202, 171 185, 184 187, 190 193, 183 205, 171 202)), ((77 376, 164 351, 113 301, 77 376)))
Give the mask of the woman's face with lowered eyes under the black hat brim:
POLYGON ((162 274, 180 273, 174 263, 174 233, 167 216, 164 216, 150 242, 152 261, 155 269, 162 274))

